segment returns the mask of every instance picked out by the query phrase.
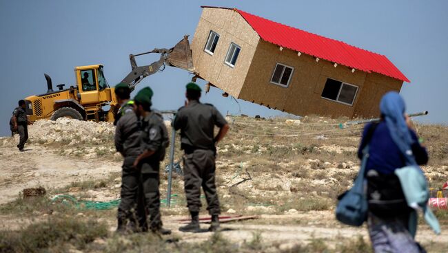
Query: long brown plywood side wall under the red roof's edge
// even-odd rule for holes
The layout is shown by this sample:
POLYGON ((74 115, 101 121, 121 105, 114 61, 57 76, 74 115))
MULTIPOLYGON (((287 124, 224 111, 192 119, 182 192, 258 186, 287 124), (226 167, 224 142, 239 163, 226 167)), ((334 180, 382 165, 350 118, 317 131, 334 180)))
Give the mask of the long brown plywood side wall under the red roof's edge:
POLYGON ((296 115, 329 115, 333 117, 378 115, 381 96, 389 90, 400 90, 402 82, 379 74, 367 74, 342 65, 301 54, 279 50, 277 45, 260 41, 239 98, 296 115), (270 83, 276 63, 294 67, 288 87, 270 83), (321 98, 327 78, 358 86, 352 106, 321 98), (366 87, 367 86, 367 87, 366 87), (363 100, 360 102, 360 100, 363 100))

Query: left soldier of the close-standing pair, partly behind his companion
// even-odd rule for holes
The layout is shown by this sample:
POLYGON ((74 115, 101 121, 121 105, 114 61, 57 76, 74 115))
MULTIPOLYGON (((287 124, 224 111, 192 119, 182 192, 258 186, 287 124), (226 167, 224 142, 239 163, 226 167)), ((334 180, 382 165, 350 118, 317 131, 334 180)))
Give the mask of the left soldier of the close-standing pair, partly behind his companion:
POLYGON ((118 208, 119 232, 147 230, 143 208, 143 188, 140 171, 134 168, 135 159, 141 154, 141 131, 138 119, 130 102, 131 90, 125 83, 115 86, 116 98, 121 104, 115 129, 115 148, 124 157, 121 175, 121 202, 118 208))

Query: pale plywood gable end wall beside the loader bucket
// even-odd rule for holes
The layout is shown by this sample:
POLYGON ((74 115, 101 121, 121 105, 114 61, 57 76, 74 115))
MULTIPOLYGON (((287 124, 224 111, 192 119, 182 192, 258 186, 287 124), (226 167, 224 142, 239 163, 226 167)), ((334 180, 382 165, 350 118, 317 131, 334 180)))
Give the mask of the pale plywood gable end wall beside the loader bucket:
POLYGON ((201 78, 238 97, 252 62, 259 36, 234 10, 204 8, 192 40, 193 63, 201 78), (219 34, 213 55, 204 51, 210 30, 219 34), (241 47, 234 67, 224 63, 230 43, 241 47))

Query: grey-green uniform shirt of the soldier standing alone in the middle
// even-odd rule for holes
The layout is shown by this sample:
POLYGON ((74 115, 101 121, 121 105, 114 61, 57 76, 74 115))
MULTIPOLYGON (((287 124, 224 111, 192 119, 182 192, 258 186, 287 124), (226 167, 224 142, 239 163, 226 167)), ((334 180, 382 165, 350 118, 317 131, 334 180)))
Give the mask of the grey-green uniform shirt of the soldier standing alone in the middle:
POLYGON ((214 126, 227 121, 212 104, 190 101, 174 118, 174 129, 181 129, 181 143, 199 149, 214 149, 214 126))

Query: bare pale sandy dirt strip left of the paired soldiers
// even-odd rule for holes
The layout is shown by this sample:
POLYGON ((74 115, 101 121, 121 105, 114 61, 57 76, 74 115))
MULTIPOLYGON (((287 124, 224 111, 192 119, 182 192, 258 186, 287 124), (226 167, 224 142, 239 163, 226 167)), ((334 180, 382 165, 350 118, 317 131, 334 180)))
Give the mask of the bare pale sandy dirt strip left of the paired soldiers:
POLYGON ((26 145, 25 149, 22 153, 15 146, 0 146, 0 204, 17 198, 23 188, 60 188, 121 171, 119 162, 61 157, 40 145, 26 145))

